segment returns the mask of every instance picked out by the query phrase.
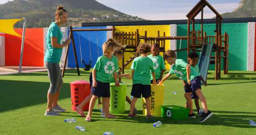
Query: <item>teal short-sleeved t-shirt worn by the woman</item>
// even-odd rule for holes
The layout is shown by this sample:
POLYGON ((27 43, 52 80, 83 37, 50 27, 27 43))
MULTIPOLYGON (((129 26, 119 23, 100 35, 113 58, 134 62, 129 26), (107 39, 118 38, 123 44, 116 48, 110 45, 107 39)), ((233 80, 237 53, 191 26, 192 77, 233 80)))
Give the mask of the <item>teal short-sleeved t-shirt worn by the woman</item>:
POLYGON ((60 27, 54 22, 49 26, 46 35, 47 50, 45 52, 44 61, 49 63, 60 63, 62 48, 53 48, 51 37, 57 37, 57 42, 60 44, 60 41, 62 40, 62 32, 60 31, 60 27))

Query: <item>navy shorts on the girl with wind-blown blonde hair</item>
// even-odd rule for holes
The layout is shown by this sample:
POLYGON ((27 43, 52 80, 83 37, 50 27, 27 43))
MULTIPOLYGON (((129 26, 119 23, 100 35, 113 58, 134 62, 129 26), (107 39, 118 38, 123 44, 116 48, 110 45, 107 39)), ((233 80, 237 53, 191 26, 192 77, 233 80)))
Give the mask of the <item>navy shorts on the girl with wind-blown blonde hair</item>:
POLYGON ((92 87, 91 94, 96 95, 98 97, 110 97, 110 88, 109 83, 102 83, 100 81, 97 82, 97 87, 92 87))

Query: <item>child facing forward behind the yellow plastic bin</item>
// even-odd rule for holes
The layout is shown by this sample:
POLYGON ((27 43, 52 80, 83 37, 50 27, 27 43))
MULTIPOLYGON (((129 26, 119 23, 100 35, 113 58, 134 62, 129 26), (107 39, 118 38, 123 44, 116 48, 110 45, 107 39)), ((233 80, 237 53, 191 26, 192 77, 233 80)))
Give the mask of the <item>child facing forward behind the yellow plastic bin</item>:
MULTIPOLYGON (((148 55, 148 57, 153 61, 154 63, 154 70, 156 74, 156 83, 159 83, 163 77, 165 65, 164 65, 164 58, 159 55, 160 52, 160 45, 159 44, 152 44, 151 48, 151 55, 148 55)), ((150 81, 153 83, 153 76, 151 74, 150 81)))

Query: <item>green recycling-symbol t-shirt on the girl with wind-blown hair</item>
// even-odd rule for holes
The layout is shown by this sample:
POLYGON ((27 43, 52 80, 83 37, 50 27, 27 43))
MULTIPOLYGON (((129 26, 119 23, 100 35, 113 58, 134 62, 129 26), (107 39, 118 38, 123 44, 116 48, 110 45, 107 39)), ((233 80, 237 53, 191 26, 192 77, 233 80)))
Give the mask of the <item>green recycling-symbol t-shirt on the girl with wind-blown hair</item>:
POLYGON ((112 55, 111 59, 100 56, 93 67, 96 69, 96 80, 102 83, 109 83, 114 72, 118 70, 118 60, 112 55))

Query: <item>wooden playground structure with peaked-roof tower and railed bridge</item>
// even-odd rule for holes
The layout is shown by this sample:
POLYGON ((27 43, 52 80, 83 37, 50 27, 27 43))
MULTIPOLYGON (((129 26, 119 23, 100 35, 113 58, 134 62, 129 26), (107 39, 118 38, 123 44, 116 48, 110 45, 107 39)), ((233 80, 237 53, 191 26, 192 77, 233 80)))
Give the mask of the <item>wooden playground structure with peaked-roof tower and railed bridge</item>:
MULTIPOLYGON (((188 45, 187 48, 175 50, 184 51, 187 50, 187 54, 191 51, 193 52, 201 52, 204 44, 212 44, 213 50, 215 52, 215 56, 210 56, 210 64, 215 64, 215 79, 220 78, 221 71, 221 58, 223 58, 223 70, 224 74, 228 74, 228 34, 224 32, 224 35, 221 35, 221 15, 206 1, 200 0, 194 8, 188 13, 188 36, 159 36, 160 32, 158 31, 157 37, 148 37, 147 31, 144 32, 144 36, 139 34, 139 30, 136 32, 115 32, 113 37, 121 44, 126 44, 126 48, 123 50, 124 52, 132 52, 134 55, 130 57, 129 60, 124 63, 124 57, 122 60, 122 67, 118 71, 122 71, 124 73, 124 67, 126 67, 129 63, 132 62, 134 58, 136 58, 136 48, 142 42, 144 43, 158 43, 160 44, 160 52, 165 52, 165 41, 166 40, 187 40, 188 45), (216 35, 214 36, 206 36, 206 32, 203 30, 203 14, 204 7, 208 6, 216 14, 216 30, 214 31, 216 35), (195 17, 201 12, 201 30, 195 31, 195 17), (192 21, 192 31, 190 31, 190 24, 192 21), (142 40, 142 41, 141 41, 142 40), (223 52, 223 53, 222 53, 223 52)), ((209 54, 211 55, 211 53, 209 54)))

